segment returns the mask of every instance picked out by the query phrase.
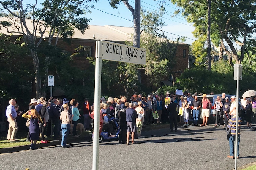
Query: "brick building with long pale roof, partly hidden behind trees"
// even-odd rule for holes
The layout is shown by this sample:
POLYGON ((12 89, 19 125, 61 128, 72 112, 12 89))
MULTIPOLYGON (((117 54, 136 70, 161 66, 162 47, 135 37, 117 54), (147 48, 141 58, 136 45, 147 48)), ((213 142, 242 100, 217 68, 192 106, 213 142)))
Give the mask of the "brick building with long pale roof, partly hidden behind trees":
MULTIPOLYGON (((7 21, 7 18, 0 17, 0 21, 7 21)), ((27 19, 27 26, 29 27, 29 30, 33 30, 33 25, 31 23, 31 20, 27 19)), ((20 25, 19 22, 15 23, 16 25, 20 25)), ((12 34, 12 38, 16 39, 22 34, 18 33, 12 33, 14 28, 9 28, 9 33, 7 30, 2 27, 0 30, 0 33, 3 33, 5 35, 12 34)), ((43 35, 43 41, 48 41, 49 34, 48 30, 46 30, 45 34, 43 35)), ((77 64, 81 69, 86 68, 86 65, 89 63, 89 61, 86 59, 88 56, 95 56, 95 45, 97 40, 106 40, 106 41, 112 41, 115 43, 121 43, 124 44, 125 41, 132 41, 132 34, 133 34, 133 28, 132 27, 121 27, 121 26, 110 26, 110 25, 104 25, 104 26, 97 26, 97 25, 90 25, 90 28, 85 31, 84 34, 82 34, 79 30, 74 30, 74 35, 71 38, 71 41, 67 43, 63 38, 58 38, 57 46, 63 50, 69 51, 70 53, 75 52, 75 48, 78 48, 79 46, 83 46, 82 51, 80 51, 80 55, 76 56, 74 58, 75 64, 77 64)), ((40 37, 40 34, 36 34, 38 37, 40 37)), ((21 39, 22 41, 22 39, 21 39)), ((55 40, 53 39, 52 43, 55 43, 55 40)), ((178 44, 176 48, 176 67, 173 68, 173 78, 178 77, 184 69, 188 68, 188 51, 189 51, 189 45, 188 44, 178 44)), ((28 58, 32 62, 32 58, 28 58)), ((30 62, 30 61, 29 61, 30 62)), ((162 81, 163 84, 171 84, 169 80, 172 78, 166 77, 166 80, 162 81)), ((31 80, 31 86, 34 86, 34 80, 31 80)), ((31 87, 32 91, 31 94, 34 93, 35 89, 31 87)), ((55 88, 56 89, 56 88, 55 88)), ((63 93, 61 90, 59 90, 58 93, 63 93)), ((4 108, 1 110, 1 118, 2 120, 5 118, 4 115, 4 108)), ((1 126, 1 124, 0 124, 1 126)), ((0 128, 1 131, 1 128, 0 128)))

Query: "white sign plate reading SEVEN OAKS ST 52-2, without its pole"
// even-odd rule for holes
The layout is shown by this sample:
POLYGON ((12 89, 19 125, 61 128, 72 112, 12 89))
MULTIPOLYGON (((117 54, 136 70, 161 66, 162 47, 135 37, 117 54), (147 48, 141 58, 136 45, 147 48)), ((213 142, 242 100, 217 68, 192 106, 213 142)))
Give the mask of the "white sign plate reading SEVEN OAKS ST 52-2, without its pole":
POLYGON ((146 49, 100 41, 102 59, 133 64, 146 64, 146 49))

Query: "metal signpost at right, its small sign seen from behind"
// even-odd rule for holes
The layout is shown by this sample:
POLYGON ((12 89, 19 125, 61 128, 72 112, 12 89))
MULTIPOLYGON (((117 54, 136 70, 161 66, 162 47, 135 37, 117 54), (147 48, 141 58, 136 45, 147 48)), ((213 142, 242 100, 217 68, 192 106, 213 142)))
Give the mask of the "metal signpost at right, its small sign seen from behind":
POLYGON ((237 138, 238 138, 238 103, 239 103, 239 80, 242 80, 242 64, 234 64, 234 80, 236 80, 236 138, 235 138, 235 170, 237 170, 237 138))

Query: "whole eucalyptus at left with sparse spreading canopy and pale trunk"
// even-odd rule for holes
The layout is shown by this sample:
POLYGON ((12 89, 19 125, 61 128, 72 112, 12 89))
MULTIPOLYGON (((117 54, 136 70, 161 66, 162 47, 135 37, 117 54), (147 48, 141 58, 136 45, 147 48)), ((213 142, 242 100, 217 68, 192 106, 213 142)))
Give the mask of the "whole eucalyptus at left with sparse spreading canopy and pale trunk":
MULTIPOLYGON (((9 33, 23 35, 24 42, 28 44, 33 58, 37 98, 41 97, 41 75, 37 49, 42 43, 45 33, 49 33, 49 44, 52 43, 53 36, 56 36, 55 46, 59 36, 70 38, 74 33, 74 28, 84 33, 90 20, 80 16, 86 14, 86 9, 89 6, 85 3, 90 1, 94 0, 45 0, 42 4, 38 4, 37 1, 29 1, 29 4, 22 0, 0 1, 1 16, 6 17, 4 22, 0 22, 0 25, 5 27, 9 33), (29 29, 31 23, 32 30, 29 29), (10 27, 13 30, 10 30, 10 27)), ((47 56, 45 63, 48 63, 48 60, 47 56)), ((44 77, 46 78, 47 75, 48 67, 46 65, 44 77)))

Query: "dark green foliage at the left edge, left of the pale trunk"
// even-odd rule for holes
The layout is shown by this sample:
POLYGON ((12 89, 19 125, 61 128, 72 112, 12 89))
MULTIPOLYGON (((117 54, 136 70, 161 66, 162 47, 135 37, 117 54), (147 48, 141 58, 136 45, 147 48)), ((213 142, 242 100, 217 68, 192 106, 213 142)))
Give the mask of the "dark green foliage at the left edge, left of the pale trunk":
MULTIPOLYGON (((17 41, 12 42, 11 36, 0 34, 0 97, 27 99, 32 92, 33 80, 32 60, 27 59, 29 51, 21 47, 17 41)), ((28 99, 27 99, 28 100, 28 99)), ((19 102, 21 103, 21 102, 19 102)))

